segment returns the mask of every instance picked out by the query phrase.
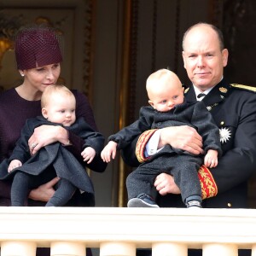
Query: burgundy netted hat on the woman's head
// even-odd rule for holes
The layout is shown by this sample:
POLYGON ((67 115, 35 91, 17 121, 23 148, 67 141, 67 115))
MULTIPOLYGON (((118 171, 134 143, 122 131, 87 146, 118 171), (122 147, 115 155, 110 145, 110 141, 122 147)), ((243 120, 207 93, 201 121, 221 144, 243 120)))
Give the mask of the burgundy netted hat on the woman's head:
POLYGON ((62 61, 60 36, 50 27, 27 27, 15 39, 15 55, 20 70, 62 61), (37 66, 38 65, 38 66, 37 66))

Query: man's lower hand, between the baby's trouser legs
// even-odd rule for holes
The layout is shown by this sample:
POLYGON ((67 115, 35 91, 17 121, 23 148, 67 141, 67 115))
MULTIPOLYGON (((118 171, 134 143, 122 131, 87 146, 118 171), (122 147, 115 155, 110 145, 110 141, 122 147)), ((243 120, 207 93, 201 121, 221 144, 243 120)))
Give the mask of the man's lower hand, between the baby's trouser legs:
POLYGON ((154 187, 160 195, 180 194, 180 189, 174 182, 173 177, 167 173, 161 173, 155 178, 154 187))

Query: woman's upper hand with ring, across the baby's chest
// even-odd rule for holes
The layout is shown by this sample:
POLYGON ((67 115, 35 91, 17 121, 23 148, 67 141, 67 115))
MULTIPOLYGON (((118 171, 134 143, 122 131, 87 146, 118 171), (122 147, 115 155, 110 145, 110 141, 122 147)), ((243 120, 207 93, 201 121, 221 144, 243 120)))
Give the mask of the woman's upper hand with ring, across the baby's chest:
POLYGON ((58 125, 38 126, 28 140, 30 153, 36 154, 40 148, 55 142, 65 145, 69 143, 68 133, 65 128, 58 125))

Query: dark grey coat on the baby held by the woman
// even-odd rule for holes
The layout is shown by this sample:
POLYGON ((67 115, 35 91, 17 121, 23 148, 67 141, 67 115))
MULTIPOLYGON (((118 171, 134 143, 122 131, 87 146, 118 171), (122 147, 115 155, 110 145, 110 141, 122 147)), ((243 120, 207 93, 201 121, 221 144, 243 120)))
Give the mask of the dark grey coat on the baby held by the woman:
MULTIPOLYGON (((34 129, 40 125, 59 124, 50 123, 42 116, 38 116, 35 119, 27 119, 13 154, 11 154, 9 160, 4 160, 1 163, 0 178, 5 179, 13 177, 17 171, 38 175, 52 165, 58 177, 66 178, 73 183, 75 187, 94 194, 93 185, 90 181, 90 177, 84 170, 84 166, 82 166, 82 163, 80 163, 65 146, 61 145, 61 143, 49 144, 41 148, 37 154, 31 156, 27 142, 34 129), (23 165, 15 168, 13 172, 6 175, 9 162, 15 159, 20 160, 23 165)), ((73 125, 69 127, 65 126, 65 128, 67 131, 72 131, 84 139, 84 148, 94 148, 97 154, 101 152, 104 137, 102 137, 101 133, 93 131, 83 118, 77 119, 73 125)))

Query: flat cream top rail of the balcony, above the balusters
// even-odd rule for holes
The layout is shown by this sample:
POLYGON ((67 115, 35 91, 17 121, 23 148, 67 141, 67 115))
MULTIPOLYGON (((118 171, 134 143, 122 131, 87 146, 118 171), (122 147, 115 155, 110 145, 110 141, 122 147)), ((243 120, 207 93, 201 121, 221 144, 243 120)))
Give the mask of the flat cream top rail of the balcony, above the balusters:
POLYGON ((81 241, 99 247, 105 241, 256 244, 256 210, 125 207, 0 207, 0 242, 81 241))

